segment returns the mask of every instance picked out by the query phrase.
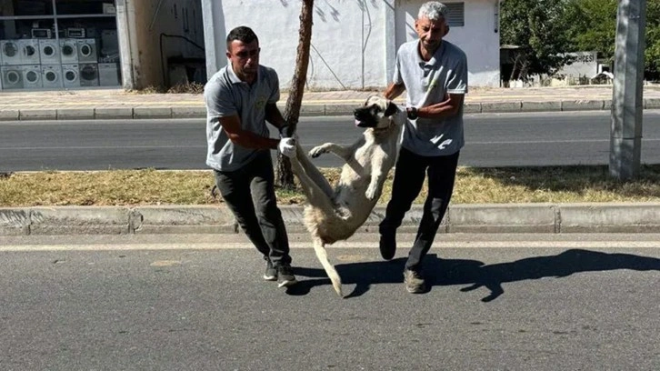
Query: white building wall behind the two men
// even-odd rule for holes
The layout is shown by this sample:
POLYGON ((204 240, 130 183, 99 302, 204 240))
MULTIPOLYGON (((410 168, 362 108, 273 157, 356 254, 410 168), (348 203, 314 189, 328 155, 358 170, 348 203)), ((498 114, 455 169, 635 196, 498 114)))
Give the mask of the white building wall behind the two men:
MULTIPOLYGON (((247 25, 259 37, 261 64, 274 67, 281 87, 287 89, 295 70, 301 2, 202 2, 208 75, 226 65, 222 56, 227 32, 235 26, 247 25), (209 19, 213 19, 212 24, 209 19), (214 60, 218 61, 215 68, 214 60)), ((414 15, 423 3, 423 0, 315 1, 307 88, 384 88, 392 78, 396 47, 416 37, 412 28, 414 15), (394 31, 390 29, 393 25, 394 31)), ((466 0, 465 27, 456 27, 447 37, 467 53, 470 85, 499 85, 496 3, 497 0, 466 0)))

